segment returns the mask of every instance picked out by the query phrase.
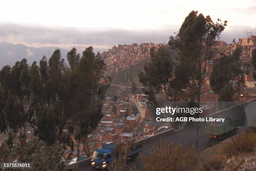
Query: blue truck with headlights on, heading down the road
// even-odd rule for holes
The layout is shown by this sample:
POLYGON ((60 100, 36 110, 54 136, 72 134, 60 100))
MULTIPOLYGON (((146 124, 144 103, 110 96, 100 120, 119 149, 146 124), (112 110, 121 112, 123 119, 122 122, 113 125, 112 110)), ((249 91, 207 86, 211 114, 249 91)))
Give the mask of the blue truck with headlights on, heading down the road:
POLYGON ((128 146, 127 157, 136 158, 138 153, 142 151, 141 143, 135 141, 109 141, 103 143, 102 147, 93 152, 91 165, 98 169, 106 169, 113 161, 114 155, 120 155, 124 145, 128 146))

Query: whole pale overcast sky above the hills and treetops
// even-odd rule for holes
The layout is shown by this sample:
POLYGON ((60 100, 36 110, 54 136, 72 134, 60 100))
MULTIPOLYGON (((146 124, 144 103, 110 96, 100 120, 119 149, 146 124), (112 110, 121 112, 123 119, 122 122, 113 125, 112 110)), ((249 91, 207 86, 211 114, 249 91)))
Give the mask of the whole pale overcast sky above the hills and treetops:
MULTIPOLYGON (((167 42, 192 10, 228 20, 222 40, 256 32, 255 0, 4 0, 0 41, 33 47, 110 48, 167 42)), ((255 33, 256 35, 256 33, 255 33)))

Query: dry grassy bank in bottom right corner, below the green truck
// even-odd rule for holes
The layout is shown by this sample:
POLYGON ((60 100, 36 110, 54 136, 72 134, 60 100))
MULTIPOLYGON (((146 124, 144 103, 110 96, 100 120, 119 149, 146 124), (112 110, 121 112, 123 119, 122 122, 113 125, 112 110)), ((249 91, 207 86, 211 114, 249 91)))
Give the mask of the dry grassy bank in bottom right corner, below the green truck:
POLYGON ((206 149, 200 155, 201 171, 234 171, 243 163, 243 155, 256 149, 255 128, 206 149), (228 161, 228 163, 227 163, 228 161))

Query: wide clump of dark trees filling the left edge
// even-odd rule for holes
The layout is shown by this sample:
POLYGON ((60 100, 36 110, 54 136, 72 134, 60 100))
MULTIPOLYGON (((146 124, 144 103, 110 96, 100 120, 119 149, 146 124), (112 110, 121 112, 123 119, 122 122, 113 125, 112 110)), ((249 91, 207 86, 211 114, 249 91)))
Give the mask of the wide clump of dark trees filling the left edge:
POLYGON ((12 68, 3 67, 0 71, 5 101, 2 111, 5 123, 14 133, 29 123, 36 135, 49 145, 61 137, 68 115, 64 111, 68 99, 63 98, 67 90, 60 86, 64 70, 60 50, 54 51, 49 65, 44 56, 40 67, 36 62, 30 67, 25 58, 12 68))

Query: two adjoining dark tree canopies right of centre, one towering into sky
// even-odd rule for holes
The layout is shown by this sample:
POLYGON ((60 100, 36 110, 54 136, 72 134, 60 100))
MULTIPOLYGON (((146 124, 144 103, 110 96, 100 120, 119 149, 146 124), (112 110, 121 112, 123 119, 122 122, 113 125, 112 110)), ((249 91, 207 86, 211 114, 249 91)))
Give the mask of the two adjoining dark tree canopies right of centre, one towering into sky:
POLYGON ((212 45, 225 29, 227 21, 213 22, 210 16, 192 11, 182 23, 179 33, 170 36, 169 47, 177 52, 177 61, 168 48, 151 49, 151 63, 139 73, 141 83, 146 87, 148 99, 156 100, 155 95, 162 91, 168 101, 179 101, 189 92, 191 102, 200 100, 200 91, 207 75, 207 61, 215 54, 212 45), (197 97, 195 97, 195 95, 197 97))

